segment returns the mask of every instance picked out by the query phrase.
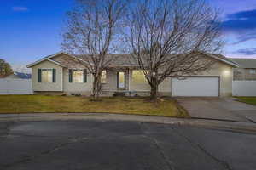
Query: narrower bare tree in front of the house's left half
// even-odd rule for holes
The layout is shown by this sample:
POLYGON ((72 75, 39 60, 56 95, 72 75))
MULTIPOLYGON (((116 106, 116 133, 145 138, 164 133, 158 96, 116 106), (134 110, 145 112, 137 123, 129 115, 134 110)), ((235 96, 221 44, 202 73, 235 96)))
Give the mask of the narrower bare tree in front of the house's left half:
POLYGON ((82 54, 83 64, 93 75, 92 95, 98 99, 102 71, 118 48, 119 22, 125 13, 124 0, 77 0, 76 7, 67 13, 67 28, 62 48, 71 54, 82 54))

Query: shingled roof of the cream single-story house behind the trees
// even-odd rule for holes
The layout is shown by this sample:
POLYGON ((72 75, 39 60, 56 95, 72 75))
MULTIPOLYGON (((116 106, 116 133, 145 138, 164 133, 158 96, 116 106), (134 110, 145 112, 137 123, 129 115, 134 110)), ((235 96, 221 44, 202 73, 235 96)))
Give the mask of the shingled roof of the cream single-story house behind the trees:
MULTIPOLYGON (((64 52, 60 52, 57 54, 53 54, 53 55, 49 55, 44 57, 43 59, 39 59, 38 61, 27 65, 28 68, 31 68, 33 65, 38 65, 40 62, 43 62, 44 60, 48 60, 50 62, 55 63, 56 65, 61 65, 62 67, 66 67, 69 68, 71 67, 71 64, 69 64, 68 62, 65 62, 64 59, 59 59, 59 60, 55 60, 53 59, 56 55, 59 54, 67 54, 64 52)), ((67 54, 68 56, 72 57, 73 59, 79 59, 79 61, 84 60, 84 58, 88 57, 88 55, 82 55, 82 54, 67 54)), ((212 59, 217 59, 227 65, 231 65, 234 67, 238 67, 237 63, 227 59, 226 57, 224 57, 224 55, 222 54, 206 54, 207 56, 211 57, 212 59)), ((137 66, 137 62, 134 61, 134 59, 132 58, 131 54, 108 54, 107 58, 113 58, 109 67, 133 67, 133 66, 137 66)), ((84 62, 86 63, 86 62, 84 62)))

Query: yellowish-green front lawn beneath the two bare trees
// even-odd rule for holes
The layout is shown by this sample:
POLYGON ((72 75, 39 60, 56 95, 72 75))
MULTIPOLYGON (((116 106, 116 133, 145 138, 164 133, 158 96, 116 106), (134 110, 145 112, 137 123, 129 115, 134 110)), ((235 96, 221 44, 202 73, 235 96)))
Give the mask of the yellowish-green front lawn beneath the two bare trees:
POLYGON ((90 98, 49 95, 0 95, 0 113, 39 112, 107 112, 153 116, 189 117, 172 99, 158 104, 145 98, 105 97, 93 102, 90 98))

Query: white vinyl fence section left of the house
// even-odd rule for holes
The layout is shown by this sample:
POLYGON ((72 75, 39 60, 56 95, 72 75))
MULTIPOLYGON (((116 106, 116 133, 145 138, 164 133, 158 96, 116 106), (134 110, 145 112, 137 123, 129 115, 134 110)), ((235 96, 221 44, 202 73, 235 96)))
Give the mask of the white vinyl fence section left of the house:
POLYGON ((32 80, 0 79, 0 94, 32 94, 32 80))

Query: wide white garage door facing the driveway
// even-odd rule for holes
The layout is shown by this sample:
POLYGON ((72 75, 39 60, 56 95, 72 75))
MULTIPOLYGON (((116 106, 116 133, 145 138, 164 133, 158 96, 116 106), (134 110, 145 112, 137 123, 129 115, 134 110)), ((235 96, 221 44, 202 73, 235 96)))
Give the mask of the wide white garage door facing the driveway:
POLYGON ((218 77, 172 78, 172 96, 218 96, 218 77))

